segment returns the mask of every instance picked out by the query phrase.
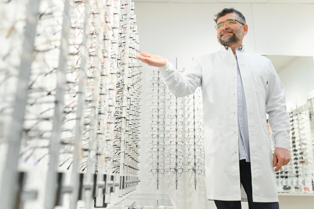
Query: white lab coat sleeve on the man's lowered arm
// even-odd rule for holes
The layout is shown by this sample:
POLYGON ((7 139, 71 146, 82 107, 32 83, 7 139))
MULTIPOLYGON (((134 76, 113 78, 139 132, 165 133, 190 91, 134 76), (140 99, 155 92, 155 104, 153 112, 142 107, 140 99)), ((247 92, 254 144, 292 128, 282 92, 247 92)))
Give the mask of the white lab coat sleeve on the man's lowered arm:
POLYGON ((290 121, 286 112, 284 89, 273 65, 269 60, 268 62, 266 113, 272 130, 272 140, 275 142, 275 147, 289 150, 290 121))

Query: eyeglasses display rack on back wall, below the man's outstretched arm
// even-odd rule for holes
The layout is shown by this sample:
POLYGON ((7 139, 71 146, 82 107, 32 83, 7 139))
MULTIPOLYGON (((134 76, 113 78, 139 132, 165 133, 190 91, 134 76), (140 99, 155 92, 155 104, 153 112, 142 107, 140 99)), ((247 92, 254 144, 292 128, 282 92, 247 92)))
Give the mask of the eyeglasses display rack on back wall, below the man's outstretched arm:
MULTIPOLYGON (((176 60, 177 67, 177 60, 176 60)), ((151 97, 151 166, 156 176, 175 175, 175 189, 182 175, 204 174, 203 105, 201 90, 193 95, 175 97, 158 70, 153 71, 151 97)), ((172 179, 172 178, 171 178, 172 179)))

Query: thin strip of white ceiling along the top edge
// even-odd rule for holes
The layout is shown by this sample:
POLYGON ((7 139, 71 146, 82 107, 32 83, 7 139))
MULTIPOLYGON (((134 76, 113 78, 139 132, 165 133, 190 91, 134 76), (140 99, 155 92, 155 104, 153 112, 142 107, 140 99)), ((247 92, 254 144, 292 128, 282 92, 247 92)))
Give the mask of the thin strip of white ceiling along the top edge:
POLYGON ((314 0, 134 0, 134 2, 314 4, 314 0))

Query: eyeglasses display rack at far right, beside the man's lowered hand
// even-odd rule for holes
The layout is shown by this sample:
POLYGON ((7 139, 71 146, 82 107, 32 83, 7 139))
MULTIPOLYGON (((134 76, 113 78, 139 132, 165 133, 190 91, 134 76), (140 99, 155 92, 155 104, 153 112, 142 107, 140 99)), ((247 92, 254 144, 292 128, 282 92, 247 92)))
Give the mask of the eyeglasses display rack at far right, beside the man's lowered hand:
MULTIPOLYGON (((292 108, 290 117, 290 162, 276 172, 277 188, 280 193, 313 193, 313 109, 312 100, 292 108)), ((269 133, 271 129, 267 122, 269 133)), ((274 143, 270 139, 273 151, 274 143)))

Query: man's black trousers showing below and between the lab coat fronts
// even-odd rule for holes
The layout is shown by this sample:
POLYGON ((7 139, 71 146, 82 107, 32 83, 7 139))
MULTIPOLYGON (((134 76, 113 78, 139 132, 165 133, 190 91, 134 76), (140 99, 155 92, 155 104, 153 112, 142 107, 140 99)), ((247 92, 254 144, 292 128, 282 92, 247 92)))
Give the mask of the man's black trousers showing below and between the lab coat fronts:
MULTIPOLYGON (((253 202, 251 163, 240 160, 240 181, 246 192, 249 209, 279 209, 278 202, 253 202)), ((241 209, 241 201, 215 200, 217 209, 241 209)))

